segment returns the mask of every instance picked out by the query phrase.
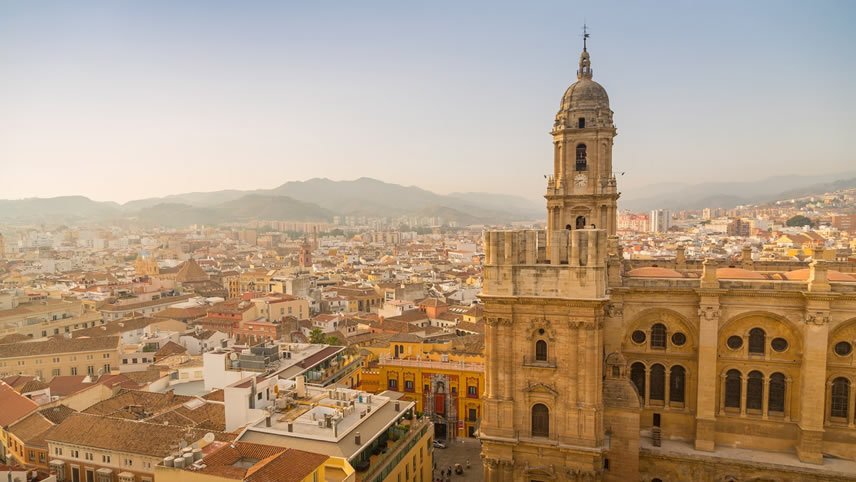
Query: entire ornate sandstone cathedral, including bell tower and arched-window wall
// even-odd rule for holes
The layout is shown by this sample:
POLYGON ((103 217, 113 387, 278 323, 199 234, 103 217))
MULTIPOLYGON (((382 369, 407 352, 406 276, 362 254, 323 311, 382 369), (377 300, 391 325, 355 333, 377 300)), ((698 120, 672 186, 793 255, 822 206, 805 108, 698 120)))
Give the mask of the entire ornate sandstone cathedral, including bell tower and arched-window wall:
POLYGON ((552 134, 547 230, 485 234, 485 479, 856 477, 856 266, 623 260, 586 49, 552 134))

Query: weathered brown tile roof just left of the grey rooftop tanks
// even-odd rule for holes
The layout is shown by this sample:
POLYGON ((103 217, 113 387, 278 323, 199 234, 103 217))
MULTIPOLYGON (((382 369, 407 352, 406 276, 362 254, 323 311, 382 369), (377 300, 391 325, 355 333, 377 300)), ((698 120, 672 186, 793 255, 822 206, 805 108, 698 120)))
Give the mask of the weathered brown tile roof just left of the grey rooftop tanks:
MULTIPOLYGON (((202 439, 208 432, 78 413, 57 425, 45 439, 129 454, 166 457, 172 452, 171 447, 180 441, 189 445, 202 439)), ((219 440, 229 441, 233 438, 230 434, 213 433, 219 440)))

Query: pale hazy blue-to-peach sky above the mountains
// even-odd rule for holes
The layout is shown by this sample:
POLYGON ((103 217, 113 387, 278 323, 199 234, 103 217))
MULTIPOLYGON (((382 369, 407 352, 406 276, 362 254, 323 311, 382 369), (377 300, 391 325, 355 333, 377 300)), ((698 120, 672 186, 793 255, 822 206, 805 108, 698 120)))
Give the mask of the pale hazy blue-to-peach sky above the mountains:
POLYGON ((0 0, 0 198, 535 198, 584 20, 623 190, 856 166, 856 2, 0 0))

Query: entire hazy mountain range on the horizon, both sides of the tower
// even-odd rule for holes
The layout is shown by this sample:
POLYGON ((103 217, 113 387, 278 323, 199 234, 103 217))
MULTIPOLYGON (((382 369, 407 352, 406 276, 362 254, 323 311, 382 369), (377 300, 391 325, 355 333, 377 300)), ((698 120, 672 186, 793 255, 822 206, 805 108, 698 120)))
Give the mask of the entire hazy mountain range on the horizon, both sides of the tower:
MULTIPOLYGON (((856 171, 833 175, 776 176, 760 181, 661 183, 630 190, 621 209, 731 208, 856 187, 856 171), (635 194, 635 196, 634 196, 635 194)), ((125 204, 83 196, 0 200, 0 222, 62 223, 128 221, 163 225, 217 224, 253 219, 331 221, 333 216, 439 216, 461 225, 541 220, 544 201, 481 192, 436 194, 360 178, 316 178, 273 189, 190 192, 125 204)))

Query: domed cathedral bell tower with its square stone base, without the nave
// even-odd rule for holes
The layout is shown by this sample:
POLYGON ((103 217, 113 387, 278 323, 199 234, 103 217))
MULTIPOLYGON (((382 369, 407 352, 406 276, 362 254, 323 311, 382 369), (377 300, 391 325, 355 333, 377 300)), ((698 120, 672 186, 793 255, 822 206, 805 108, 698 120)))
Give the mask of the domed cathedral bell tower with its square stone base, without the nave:
POLYGON ((479 432, 488 482, 612 477, 603 323, 617 246, 615 126, 585 45, 552 135, 547 229, 485 233, 479 432))

